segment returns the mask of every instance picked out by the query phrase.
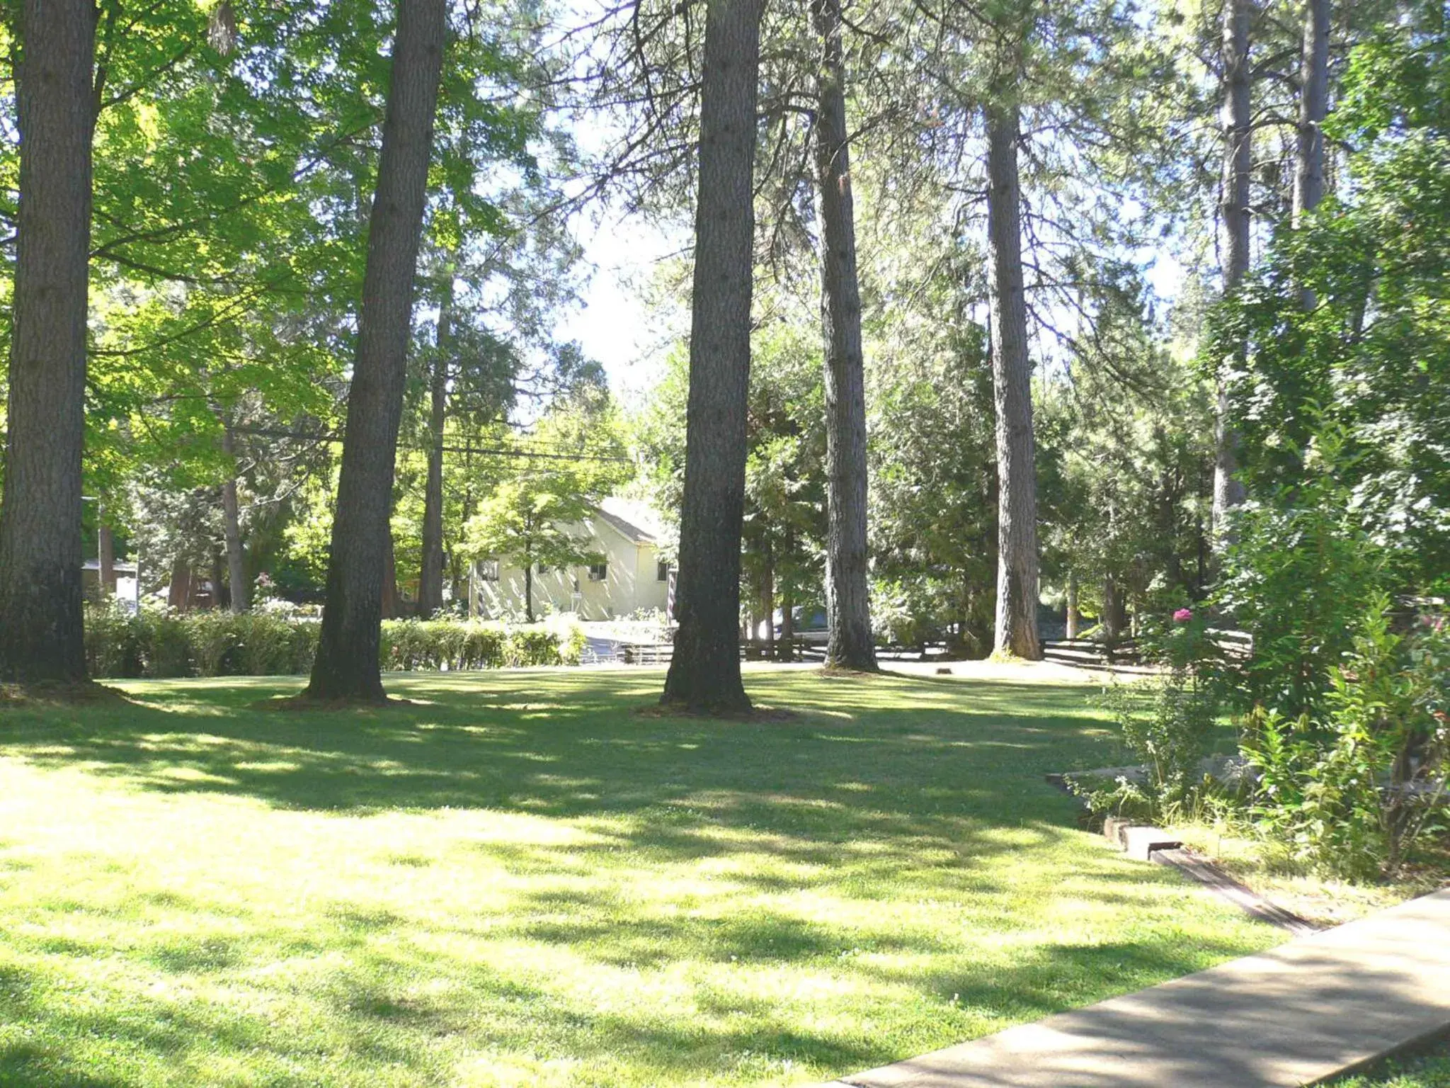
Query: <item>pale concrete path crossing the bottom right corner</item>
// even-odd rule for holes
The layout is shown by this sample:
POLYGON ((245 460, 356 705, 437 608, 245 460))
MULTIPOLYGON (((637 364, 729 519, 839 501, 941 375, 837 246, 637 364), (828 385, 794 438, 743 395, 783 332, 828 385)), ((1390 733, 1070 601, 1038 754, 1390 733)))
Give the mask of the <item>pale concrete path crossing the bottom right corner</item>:
POLYGON ((1450 1027, 1450 891, 853 1088, 1298 1088, 1450 1027))

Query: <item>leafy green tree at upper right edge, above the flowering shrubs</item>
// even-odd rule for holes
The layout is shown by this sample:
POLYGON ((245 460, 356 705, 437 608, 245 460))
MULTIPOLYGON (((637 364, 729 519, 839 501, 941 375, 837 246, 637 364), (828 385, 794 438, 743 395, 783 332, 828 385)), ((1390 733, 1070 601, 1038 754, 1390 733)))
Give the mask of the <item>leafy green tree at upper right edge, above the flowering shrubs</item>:
POLYGON ((1246 479, 1289 500, 1338 482, 1399 586, 1428 590, 1450 570, 1450 35, 1441 4, 1412 15, 1356 49, 1328 122, 1353 187, 1276 236, 1217 335, 1248 344, 1246 479))

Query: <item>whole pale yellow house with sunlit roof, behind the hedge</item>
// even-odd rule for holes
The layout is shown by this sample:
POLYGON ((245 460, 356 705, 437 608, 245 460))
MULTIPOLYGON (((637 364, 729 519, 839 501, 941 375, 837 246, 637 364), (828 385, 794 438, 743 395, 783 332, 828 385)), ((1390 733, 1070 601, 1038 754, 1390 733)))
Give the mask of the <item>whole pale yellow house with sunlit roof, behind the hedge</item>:
MULTIPOLYGON (((534 612, 571 612, 580 619, 618 619, 631 612, 667 612, 674 569, 660 559, 658 515, 642 503, 609 498, 570 532, 587 538, 586 551, 603 563, 535 567, 534 612)), ((522 617, 523 569, 480 560, 473 567, 468 614, 486 619, 522 617)))

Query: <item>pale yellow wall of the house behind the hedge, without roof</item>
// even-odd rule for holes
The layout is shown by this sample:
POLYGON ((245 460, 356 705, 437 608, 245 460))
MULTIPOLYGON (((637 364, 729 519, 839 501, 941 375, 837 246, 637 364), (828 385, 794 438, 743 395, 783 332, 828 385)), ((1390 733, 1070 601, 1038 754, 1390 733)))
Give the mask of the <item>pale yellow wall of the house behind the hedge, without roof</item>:
MULTIPOLYGON (((590 582, 589 567, 534 572, 534 612, 576 612, 580 619, 613 619, 641 608, 664 611, 668 583, 658 580, 658 550, 625 537, 602 518, 587 518, 576 527, 590 538, 590 548, 608 563, 605 580, 590 582), (577 586, 577 599, 576 599, 577 586)), ((474 579, 478 614, 496 619, 522 615, 523 569, 502 566, 497 582, 474 579)))

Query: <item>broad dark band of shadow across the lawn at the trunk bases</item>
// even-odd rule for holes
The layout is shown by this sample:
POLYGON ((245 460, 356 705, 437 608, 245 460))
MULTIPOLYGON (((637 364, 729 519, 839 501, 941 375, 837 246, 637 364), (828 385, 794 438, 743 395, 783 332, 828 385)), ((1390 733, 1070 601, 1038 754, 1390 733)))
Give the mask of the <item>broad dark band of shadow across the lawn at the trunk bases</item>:
POLYGON ((1024 788, 1041 811, 1053 795, 1041 772, 1101 728, 1073 689, 802 673, 753 685, 773 702, 811 698, 795 721, 642 718, 631 711, 654 683, 629 673, 394 680, 418 705, 386 711, 248 708, 281 683, 135 685, 135 702, 119 708, 7 715, 0 743, 42 766, 284 808, 579 817, 716 794, 734 795, 716 818, 789 811, 790 823, 838 825, 873 807, 1012 809, 1024 788), (813 817, 811 805, 821 808, 813 817))

